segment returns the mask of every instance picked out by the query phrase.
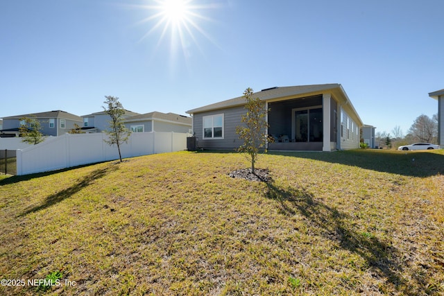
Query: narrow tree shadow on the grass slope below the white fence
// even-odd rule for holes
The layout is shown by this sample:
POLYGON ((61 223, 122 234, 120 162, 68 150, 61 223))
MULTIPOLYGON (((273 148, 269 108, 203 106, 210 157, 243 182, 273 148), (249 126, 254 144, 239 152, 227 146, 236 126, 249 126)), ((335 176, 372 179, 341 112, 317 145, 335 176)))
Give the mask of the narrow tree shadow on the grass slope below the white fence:
POLYGON ((78 191, 92 184, 95 180, 104 177, 107 173, 109 173, 110 171, 115 171, 116 169, 117 167, 115 166, 108 166, 107 168, 100 168, 96 171, 92 171, 92 173, 89 173, 89 175, 78 179, 74 185, 69 186, 67 189, 63 189, 62 191, 49 195, 48 197, 46 197, 42 204, 32 207, 31 209, 27 209, 19 216, 26 216, 28 214, 35 213, 36 211, 46 209, 48 207, 51 207, 53 204, 57 204, 62 200, 70 198, 72 195, 78 193, 78 191))

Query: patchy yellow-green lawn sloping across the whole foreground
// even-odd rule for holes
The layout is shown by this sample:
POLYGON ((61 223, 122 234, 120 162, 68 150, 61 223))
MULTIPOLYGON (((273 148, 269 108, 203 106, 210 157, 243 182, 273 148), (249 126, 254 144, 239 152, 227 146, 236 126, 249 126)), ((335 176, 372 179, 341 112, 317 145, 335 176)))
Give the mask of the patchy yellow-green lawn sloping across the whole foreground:
POLYGON ((0 176, 0 295, 443 295, 444 151, 167 153, 0 176), (414 160, 413 160, 414 159, 414 160), (65 280, 71 284, 65 285, 65 280), (46 294, 45 294, 46 295, 46 294))

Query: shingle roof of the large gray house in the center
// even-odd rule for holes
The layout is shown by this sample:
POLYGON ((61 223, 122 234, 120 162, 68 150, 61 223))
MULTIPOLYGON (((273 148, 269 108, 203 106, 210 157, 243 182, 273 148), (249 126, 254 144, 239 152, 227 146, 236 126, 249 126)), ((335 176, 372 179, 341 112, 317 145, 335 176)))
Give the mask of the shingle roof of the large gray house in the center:
MULTIPOLYGON (((261 100, 271 100, 273 98, 285 98, 288 96, 298 96, 300 94, 310 94, 313 92, 321 92, 326 89, 334 89, 337 87, 341 87, 341 85, 337 83, 333 84, 325 84, 325 85, 300 85, 293 87, 273 87, 271 89, 264 89, 261 92, 255 92, 253 94, 254 97, 257 97, 261 100)), ((244 105, 246 103, 244 96, 238 96, 237 98, 232 98, 230 100, 221 101, 219 103, 214 103, 210 105, 206 105, 203 107, 198 107, 196 109, 192 109, 187 111, 188 114, 204 112, 210 110, 223 109, 226 107, 234 107, 238 105, 244 105)))

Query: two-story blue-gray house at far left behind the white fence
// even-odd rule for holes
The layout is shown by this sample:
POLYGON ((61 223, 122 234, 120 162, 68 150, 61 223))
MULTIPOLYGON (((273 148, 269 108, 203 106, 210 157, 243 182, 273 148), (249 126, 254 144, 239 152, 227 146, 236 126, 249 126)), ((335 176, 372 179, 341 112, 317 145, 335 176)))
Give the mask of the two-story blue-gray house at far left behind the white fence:
POLYGON ((80 116, 61 111, 40 112, 34 114, 23 114, 3 117, 3 128, 0 130, 0 137, 17 137, 19 135, 20 119, 35 116, 42 125, 42 134, 45 136, 61 136, 74 128, 74 123, 82 125, 80 116))

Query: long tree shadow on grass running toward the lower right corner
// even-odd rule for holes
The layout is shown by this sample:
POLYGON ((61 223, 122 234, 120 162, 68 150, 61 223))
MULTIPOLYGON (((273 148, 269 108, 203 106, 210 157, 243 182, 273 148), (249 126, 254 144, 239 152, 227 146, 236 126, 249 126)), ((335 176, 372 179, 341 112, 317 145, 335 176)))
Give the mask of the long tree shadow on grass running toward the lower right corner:
MULTIPOLYGON (((402 290, 405 295, 415 295, 415 288, 402 279, 404 267, 399 263, 402 261, 402 254, 395 247, 380 241, 372 234, 352 229, 348 223, 352 217, 316 200, 305 189, 280 188, 273 182, 268 182, 267 186, 266 198, 280 202, 282 214, 304 216, 307 223, 320 229, 321 235, 334 245, 364 259, 376 277, 386 279, 386 286, 402 290)), ((407 268, 407 264, 405 267, 407 268)), ((416 284, 423 286, 423 283, 416 284)))

